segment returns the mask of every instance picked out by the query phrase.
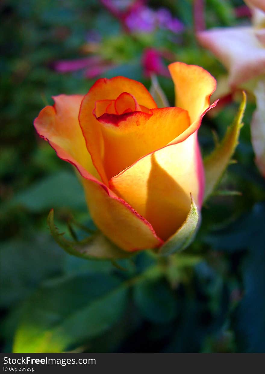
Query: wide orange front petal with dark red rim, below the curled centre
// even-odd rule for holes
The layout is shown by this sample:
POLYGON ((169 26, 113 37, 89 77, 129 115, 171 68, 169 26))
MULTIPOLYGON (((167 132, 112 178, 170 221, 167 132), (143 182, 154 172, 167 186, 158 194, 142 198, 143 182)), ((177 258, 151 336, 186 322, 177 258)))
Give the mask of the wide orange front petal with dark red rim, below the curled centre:
POLYGON ((131 166, 140 157, 167 145, 189 125, 188 112, 180 108, 150 110, 98 118, 104 140, 107 178, 131 166))

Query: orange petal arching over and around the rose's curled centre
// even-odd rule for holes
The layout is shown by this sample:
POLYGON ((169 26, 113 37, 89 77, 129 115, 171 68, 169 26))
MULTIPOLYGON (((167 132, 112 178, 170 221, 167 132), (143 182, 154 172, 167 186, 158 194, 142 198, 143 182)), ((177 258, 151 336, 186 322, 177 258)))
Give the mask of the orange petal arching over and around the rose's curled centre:
POLYGON ((92 156, 95 168, 106 184, 108 179, 103 164, 104 143, 101 126, 94 117, 93 110, 96 101, 114 100, 122 92, 130 92, 139 105, 144 105, 149 109, 157 107, 150 93, 140 82, 125 77, 114 77, 112 79, 101 78, 97 80, 85 95, 79 113, 79 122, 86 140, 86 146, 92 156))

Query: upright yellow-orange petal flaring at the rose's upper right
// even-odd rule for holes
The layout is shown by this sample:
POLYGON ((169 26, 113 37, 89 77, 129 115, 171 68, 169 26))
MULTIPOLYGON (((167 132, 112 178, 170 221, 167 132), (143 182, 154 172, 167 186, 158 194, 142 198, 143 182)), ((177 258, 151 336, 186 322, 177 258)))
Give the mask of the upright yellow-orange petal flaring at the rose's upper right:
POLYGON ((175 85, 175 105, 188 110, 192 123, 209 107, 216 80, 208 71, 196 65, 173 62, 168 68, 175 85))

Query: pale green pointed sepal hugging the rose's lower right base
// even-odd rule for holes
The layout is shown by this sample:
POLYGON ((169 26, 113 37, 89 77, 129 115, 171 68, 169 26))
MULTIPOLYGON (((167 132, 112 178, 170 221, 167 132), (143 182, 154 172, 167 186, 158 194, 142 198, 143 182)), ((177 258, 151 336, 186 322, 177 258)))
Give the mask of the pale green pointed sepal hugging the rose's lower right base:
POLYGON ((171 255, 175 252, 182 251, 187 248, 188 245, 194 239, 195 234, 199 228, 200 214, 198 208, 191 196, 191 209, 183 225, 177 230, 177 232, 165 242, 164 245, 159 249, 158 254, 160 255, 171 255))

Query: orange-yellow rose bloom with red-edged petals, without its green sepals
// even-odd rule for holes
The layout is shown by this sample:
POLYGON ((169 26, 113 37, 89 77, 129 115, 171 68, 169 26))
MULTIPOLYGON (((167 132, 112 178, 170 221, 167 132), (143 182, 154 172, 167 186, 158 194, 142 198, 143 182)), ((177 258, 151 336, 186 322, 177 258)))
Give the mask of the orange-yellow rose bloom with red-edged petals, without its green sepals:
MULTIPOLYGON (((169 66, 176 107, 157 108, 131 79, 99 79, 85 95, 59 95, 34 121, 82 176, 95 224, 125 251, 158 248, 200 207, 204 170, 197 131, 215 79, 195 65, 169 66)), ((74 191, 73 191, 74 193, 74 191)))

